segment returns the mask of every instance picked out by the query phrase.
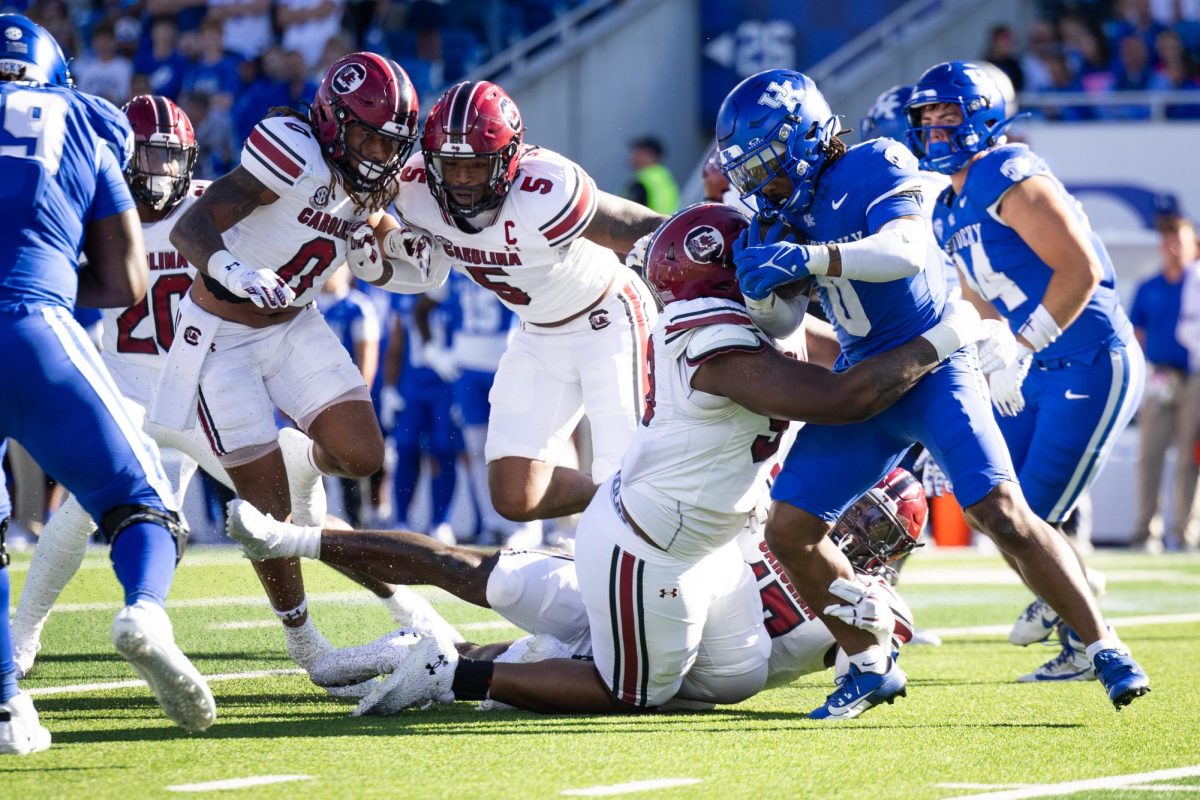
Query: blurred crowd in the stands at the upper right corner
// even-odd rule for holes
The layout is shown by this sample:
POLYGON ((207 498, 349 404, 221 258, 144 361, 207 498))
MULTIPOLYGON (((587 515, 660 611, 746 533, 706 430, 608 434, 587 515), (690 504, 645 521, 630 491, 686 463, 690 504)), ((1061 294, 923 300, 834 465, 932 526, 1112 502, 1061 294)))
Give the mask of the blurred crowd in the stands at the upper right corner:
MULTIPOLYGON (((1134 91, 1196 92, 1171 102, 1166 119, 1200 119, 1200 0, 1044 0, 1043 17, 1020 34, 991 30, 982 58, 1016 91, 1111 98, 1134 91)), ((1145 103, 1024 104, 1058 121, 1141 120, 1145 103)))

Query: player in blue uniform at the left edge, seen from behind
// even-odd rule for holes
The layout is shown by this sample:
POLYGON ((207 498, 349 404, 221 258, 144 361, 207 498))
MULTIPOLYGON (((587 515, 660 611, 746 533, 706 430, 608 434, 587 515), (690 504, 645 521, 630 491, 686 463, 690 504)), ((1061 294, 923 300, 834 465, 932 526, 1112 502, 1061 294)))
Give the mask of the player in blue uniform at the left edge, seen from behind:
POLYGON ((212 694, 164 608, 186 529, 156 447, 71 315, 76 302, 125 307, 145 294, 140 222, 95 104, 65 85, 58 43, 19 14, 0 14, 0 438, 20 440, 100 522, 125 589, 113 644, 167 716, 203 730, 212 694))

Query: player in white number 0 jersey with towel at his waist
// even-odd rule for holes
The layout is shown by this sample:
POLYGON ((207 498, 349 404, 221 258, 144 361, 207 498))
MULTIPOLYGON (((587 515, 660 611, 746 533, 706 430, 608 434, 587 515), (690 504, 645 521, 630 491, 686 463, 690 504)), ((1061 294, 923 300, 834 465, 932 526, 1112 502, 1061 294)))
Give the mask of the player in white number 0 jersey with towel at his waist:
MULTIPOLYGON (((347 231, 391 203, 416 142, 418 101, 394 61, 352 53, 325 71, 306 114, 277 112, 172 230, 199 279, 180 303, 182 333, 150 420, 176 431, 198 423, 238 494, 282 518, 323 475, 365 477, 383 464, 362 375, 312 300, 346 260, 347 231), (311 437, 282 443, 299 451, 299 469, 290 458, 284 469, 276 407, 311 437)), ((324 509, 296 517, 323 518, 324 509)), ((299 563, 256 569, 305 666, 328 643, 308 624, 299 563)))

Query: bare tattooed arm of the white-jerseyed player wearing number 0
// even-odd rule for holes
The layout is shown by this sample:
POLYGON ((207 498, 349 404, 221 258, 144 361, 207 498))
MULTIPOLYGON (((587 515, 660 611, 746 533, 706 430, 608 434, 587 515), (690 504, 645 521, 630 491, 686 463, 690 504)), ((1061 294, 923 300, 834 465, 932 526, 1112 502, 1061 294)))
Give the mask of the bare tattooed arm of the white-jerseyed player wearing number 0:
POLYGON ((226 249, 221 234, 248 217, 258 206, 270 205, 277 199, 275 192, 238 167, 214 181, 184 212, 170 231, 170 243, 188 264, 208 275, 212 254, 226 249))

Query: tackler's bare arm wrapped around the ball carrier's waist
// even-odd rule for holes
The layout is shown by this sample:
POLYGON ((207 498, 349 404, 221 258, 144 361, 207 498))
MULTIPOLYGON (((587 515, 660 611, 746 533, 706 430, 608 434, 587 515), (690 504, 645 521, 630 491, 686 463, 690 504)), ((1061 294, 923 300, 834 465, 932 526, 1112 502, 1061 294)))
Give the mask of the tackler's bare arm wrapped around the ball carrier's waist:
POLYGON ((979 314, 950 303, 942 321, 898 348, 840 373, 794 361, 773 348, 732 350, 696 371, 692 387, 728 397, 763 416, 845 425, 888 408, 952 353, 984 336, 979 314))

